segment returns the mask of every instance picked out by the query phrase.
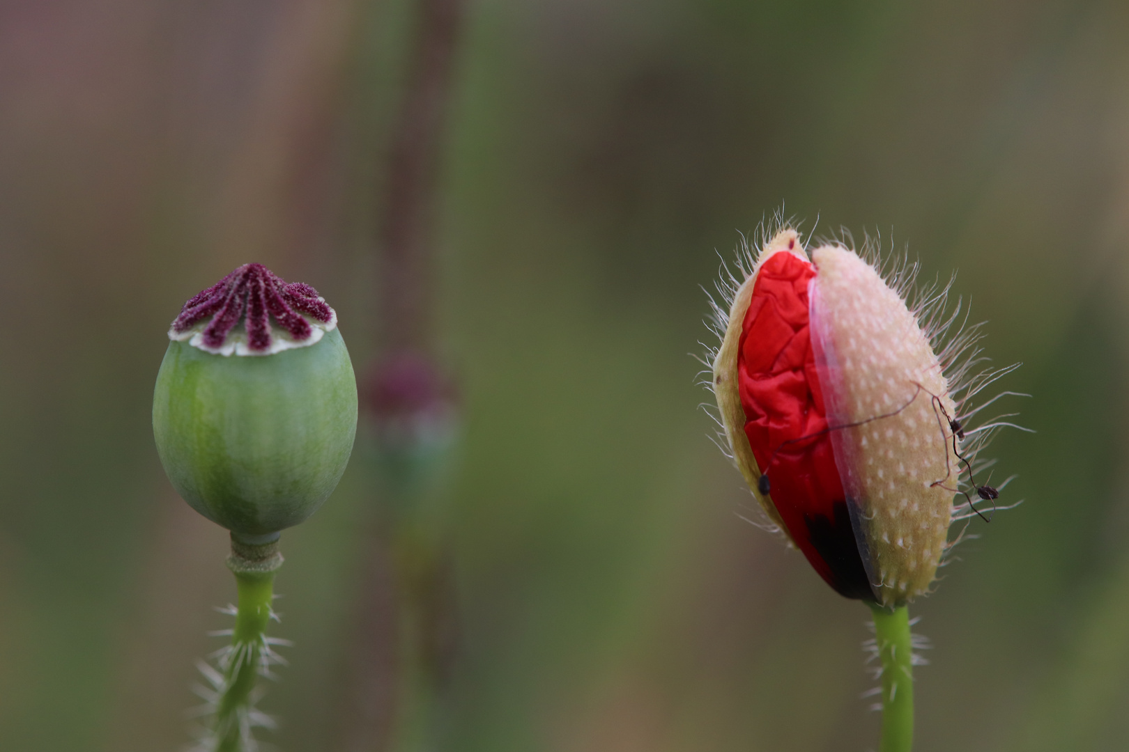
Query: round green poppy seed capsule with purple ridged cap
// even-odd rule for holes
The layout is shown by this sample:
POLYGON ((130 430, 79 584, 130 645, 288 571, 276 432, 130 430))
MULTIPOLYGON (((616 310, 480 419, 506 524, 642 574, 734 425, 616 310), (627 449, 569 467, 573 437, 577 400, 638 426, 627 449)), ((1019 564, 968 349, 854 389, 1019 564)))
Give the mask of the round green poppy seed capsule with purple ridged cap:
POLYGON ((165 472, 235 538, 278 538, 329 497, 352 451, 357 383, 336 313, 246 264, 189 300, 168 337, 152 404, 165 472))

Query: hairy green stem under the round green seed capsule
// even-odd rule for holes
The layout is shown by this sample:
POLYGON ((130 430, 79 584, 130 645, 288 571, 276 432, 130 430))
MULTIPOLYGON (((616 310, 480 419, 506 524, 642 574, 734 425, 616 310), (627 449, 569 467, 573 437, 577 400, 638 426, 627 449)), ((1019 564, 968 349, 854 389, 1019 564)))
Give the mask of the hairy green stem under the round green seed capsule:
POLYGON ((216 706, 216 752, 254 749, 252 729, 262 723, 255 717, 253 691, 270 663, 266 625, 273 616, 274 570, 281 564, 277 542, 247 545, 233 536, 227 565, 235 573, 239 600, 230 653, 220 661, 224 684, 216 706))

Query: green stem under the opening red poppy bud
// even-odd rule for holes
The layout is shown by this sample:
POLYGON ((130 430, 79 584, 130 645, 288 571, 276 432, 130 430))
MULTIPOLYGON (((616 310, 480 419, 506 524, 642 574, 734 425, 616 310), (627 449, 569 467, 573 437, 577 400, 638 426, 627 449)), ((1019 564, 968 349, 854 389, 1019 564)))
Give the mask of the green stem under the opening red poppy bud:
POLYGON ((882 661, 882 744, 879 752, 910 752, 913 746, 913 652, 909 610, 878 605, 874 630, 882 661))

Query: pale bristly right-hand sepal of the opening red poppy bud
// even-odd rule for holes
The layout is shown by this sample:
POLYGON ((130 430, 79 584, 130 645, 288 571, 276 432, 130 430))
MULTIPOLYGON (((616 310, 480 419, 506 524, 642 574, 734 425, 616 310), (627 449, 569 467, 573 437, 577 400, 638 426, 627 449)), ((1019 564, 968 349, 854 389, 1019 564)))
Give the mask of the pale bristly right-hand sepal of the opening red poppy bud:
POLYGON ((812 262, 816 369, 829 423, 848 426, 831 432, 835 465, 872 586, 901 605, 927 592, 946 547, 959 465, 942 408, 955 407, 929 339, 878 272, 839 246, 812 262))

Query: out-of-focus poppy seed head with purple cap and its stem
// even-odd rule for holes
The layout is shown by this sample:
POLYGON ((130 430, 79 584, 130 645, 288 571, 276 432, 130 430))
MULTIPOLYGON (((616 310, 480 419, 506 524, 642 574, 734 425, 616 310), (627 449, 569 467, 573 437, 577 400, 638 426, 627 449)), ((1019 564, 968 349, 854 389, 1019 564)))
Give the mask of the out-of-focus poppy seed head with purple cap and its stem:
MULTIPOLYGON (((383 561, 392 566, 397 645, 393 741, 386 747, 374 746, 385 735, 379 724, 357 724, 357 746, 345 749, 430 750, 456 639, 444 493, 456 435, 455 399, 434 362, 421 356, 401 354, 383 363, 377 377, 369 395, 373 435, 367 449, 378 477, 379 508, 361 556, 369 576, 379 576, 383 561)), ((362 582, 359 598, 376 595, 376 589, 362 582)), ((376 609, 362 608, 378 618, 376 609)), ((358 621, 357 626, 358 642, 379 639, 377 625, 358 621)), ((359 690, 353 702, 377 699, 371 690, 380 691, 379 666, 355 663, 352 671, 351 684, 359 690)), ((378 709, 370 706, 367 710, 378 709)))

